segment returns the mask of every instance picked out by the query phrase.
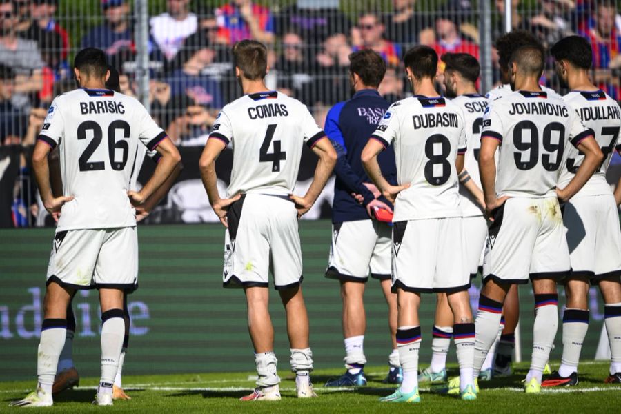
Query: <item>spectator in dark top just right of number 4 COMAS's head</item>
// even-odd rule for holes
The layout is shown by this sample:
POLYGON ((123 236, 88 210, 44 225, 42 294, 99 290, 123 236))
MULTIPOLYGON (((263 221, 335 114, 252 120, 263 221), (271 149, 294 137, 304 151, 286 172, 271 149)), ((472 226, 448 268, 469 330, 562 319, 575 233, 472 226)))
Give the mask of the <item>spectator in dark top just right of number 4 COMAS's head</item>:
POLYGON ((311 99, 313 82, 306 49, 299 34, 288 32, 282 38, 282 55, 276 64, 278 89, 302 102, 311 99))

